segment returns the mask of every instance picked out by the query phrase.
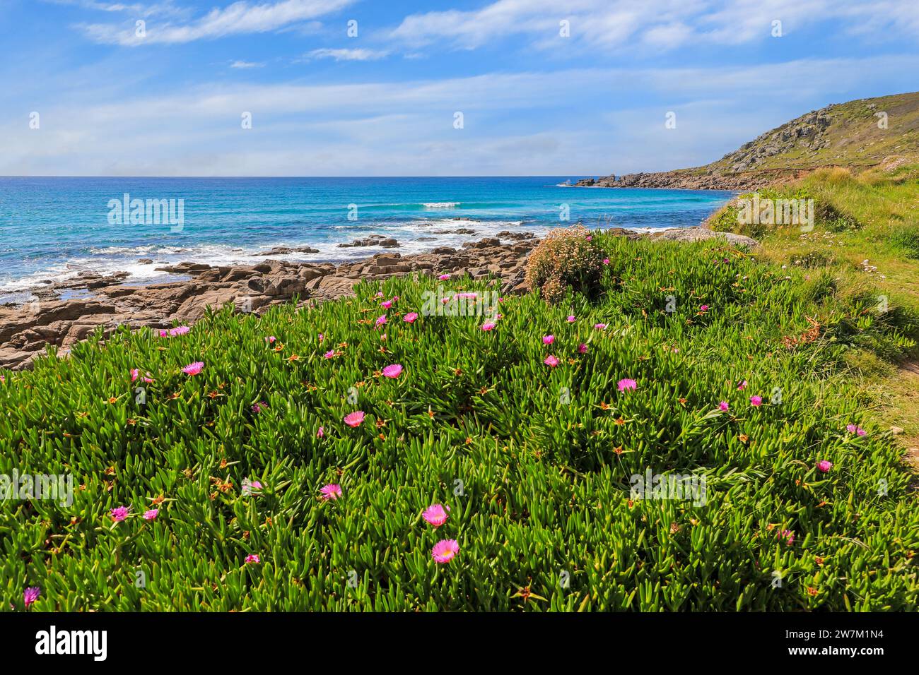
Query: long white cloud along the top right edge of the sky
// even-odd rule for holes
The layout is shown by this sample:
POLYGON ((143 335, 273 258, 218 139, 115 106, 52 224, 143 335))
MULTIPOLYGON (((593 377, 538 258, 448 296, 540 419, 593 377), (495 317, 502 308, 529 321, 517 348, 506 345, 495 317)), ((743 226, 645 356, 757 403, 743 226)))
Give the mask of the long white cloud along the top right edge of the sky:
POLYGON ((891 31, 919 36, 915 0, 496 0, 480 9, 413 14, 389 37, 409 46, 446 43, 476 49, 496 39, 528 35, 544 49, 624 50, 643 44, 671 50, 686 44, 740 44, 838 20, 848 33, 891 31), (570 37, 560 35, 560 22, 570 37), (870 30, 866 31, 866 26, 870 30), (566 41, 567 40, 567 41, 566 41))

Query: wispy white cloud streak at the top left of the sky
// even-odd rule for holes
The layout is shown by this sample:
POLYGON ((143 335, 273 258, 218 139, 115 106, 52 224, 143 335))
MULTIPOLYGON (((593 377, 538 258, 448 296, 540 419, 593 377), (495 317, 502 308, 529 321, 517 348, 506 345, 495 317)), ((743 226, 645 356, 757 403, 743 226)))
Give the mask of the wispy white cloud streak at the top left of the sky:
POLYGON ((355 0, 281 0, 255 5, 245 0, 214 8, 204 17, 186 22, 148 22, 146 34, 138 37, 134 24, 84 24, 90 39, 107 44, 136 47, 143 44, 177 44, 197 39, 217 39, 229 35, 264 33, 300 21, 332 14, 355 0))

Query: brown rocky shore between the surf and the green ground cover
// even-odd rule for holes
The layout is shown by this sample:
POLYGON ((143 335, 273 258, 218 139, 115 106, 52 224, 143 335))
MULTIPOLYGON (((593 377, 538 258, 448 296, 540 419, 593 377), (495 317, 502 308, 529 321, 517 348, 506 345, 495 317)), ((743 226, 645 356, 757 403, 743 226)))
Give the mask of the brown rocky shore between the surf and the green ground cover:
MULTIPOLYGON (((701 228, 668 230, 652 235, 615 229, 613 234, 637 239, 642 236, 675 241, 698 241, 725 237, 734 244, 754 246, 747 237, 701 228)), ((539 242, 533 234, 503 231, 497 237, 465 242, 461 248, 438 247, 430 253, 401 255, 387 251, 370 258, 342 264, 290 263, 268 258, 253 265, 212 266, 180 263, 158 268, 176 274, 178 280, 130 286, 128 274, 84 274, 76 279, 35 291, 36 300, 23 305, 0 305, 0 367, 20 369, 54 345, 59 354, 93 336, 102 337, 119 326, 162 329, 176 323, 198 321, 205 310, 232 303, 240 311, 260 313, 299 298, 301 304, 340 298, 361 280, 385 279, 414 273, 449 274, 500 280, 505 295, 524 293, 528 253, 539 242), (62 299, 62 294, 67 299, 62 299)))

